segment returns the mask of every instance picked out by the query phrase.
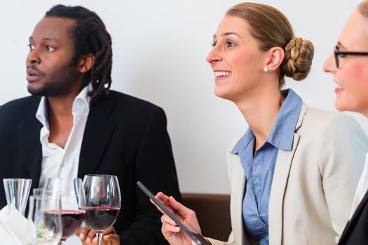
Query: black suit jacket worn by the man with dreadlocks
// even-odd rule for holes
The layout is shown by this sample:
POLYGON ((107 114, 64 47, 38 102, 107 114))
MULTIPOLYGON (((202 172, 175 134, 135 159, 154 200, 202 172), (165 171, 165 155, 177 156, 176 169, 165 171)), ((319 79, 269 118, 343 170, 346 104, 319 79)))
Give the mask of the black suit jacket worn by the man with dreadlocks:
MULTIPOLYGON (((32 179, 41 174, 40 97, 25 97, 0 106, 0 179, 32 179)), ((90 105, 83 134, 78 177, 114 174, 121 188, 121 214, 114 227, 121 244, 166 244, 160 214, 136 186, 180 200, 177 174, 163 109, 115 91, 90 105)), ((3 182, 0 207, 6 205, 3 182)))

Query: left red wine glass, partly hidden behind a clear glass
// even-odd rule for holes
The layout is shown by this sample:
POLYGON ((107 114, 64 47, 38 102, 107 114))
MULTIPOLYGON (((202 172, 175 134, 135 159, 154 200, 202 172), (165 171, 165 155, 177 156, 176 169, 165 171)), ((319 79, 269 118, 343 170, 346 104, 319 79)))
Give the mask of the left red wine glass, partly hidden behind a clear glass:
MULTIPOLYGON (((58 192, 61 197, 61 207, 59 209, 62 216, 62 237, 60 244, 65 244, 65 241, 71 235, 74 235, 76 230, 81 227, 86 211, 80 209, 85 206, 85 197, 83 191, 75 193, 72 190, 62 190, 65 186, 62 181, 66 179, 48 179, 45 183, 45 189, 50 192, 58 192)), ((81 188, 83 190, 83 188, 81 188)))

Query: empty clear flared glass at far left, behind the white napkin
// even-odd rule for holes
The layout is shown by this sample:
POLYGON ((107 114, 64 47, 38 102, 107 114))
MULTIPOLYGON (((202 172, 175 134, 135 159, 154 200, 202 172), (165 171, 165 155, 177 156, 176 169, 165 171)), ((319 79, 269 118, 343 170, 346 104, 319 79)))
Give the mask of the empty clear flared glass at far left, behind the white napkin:
POLYGON ((25 215, 32 179, 3 179, 3 183, 6 203, 11 205, 14 202, 15 209, 18 209, 22 215, 25 215))

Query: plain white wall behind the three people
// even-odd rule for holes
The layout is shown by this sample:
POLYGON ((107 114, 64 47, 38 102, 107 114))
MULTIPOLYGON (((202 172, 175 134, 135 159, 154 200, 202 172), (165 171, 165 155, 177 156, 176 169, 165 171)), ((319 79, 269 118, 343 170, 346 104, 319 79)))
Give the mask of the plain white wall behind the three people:
MULTIPOLYGON (((255 2, 281 10, 296 36, 315 44, 310 76, 303 82, 287 80, 287 87, 310 106, 334 110, 334 83, 322 64, 360 0, 255 2)), ((28 94, 28 38, 36 22, 57 3, 85 6, 104 21, 113 40, 112 89, 165 109, 181 190, 229 193, 226 145, 245 132, 247 124, 234 104, 214 96, 214 76, 205 57, 217 24, 240 1, 6 1, 0 8, 0 104, 28 94)), ((365 119, 354 116, 367 130, 365 119)))

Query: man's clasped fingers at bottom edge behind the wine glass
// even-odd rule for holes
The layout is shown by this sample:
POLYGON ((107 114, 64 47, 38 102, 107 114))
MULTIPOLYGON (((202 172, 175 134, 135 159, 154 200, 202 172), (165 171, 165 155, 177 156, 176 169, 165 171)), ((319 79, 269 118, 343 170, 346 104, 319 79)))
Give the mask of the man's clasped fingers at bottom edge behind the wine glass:
MULTIPOLYGON (((96 232, 89 226, 79 228, 76 235, 79 236, 83 245, 97 244, 96 232)), ((114 227, 110 226, 104 230, 102 245, 120 245, 120 237, 116 234, 114 227)))

